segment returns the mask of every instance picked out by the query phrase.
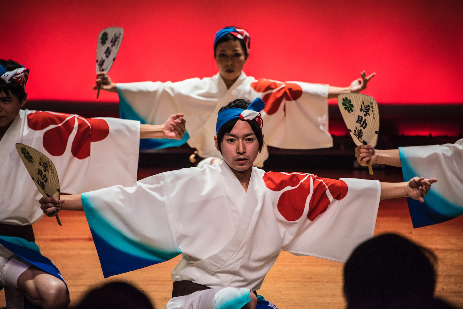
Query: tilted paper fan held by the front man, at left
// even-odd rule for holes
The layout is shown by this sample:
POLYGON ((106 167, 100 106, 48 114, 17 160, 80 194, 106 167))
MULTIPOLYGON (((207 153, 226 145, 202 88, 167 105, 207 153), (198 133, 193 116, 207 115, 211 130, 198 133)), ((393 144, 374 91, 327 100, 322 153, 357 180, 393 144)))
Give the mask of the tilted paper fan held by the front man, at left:
MULTIPOLYGON (((28 145, 16 143, 16 150, 40 193, 44 196, 56 197, 59 201, 59 178, 55 164, 42 152, 28 145)), ((61 225, 57 214, 55 217, 61 225)))

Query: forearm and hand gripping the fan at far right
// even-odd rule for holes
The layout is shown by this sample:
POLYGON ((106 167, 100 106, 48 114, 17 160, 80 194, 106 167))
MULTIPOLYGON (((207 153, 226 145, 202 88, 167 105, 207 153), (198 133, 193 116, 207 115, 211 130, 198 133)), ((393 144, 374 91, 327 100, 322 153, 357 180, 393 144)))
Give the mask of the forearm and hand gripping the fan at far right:
POLYGON ((399 149, 379 150, 372 145, 360 145, 355 147, 355 158, 362 166, 367 166, 368 161, 371 164, 386 164, 392 166, 402 166, 400 164, 399 149))

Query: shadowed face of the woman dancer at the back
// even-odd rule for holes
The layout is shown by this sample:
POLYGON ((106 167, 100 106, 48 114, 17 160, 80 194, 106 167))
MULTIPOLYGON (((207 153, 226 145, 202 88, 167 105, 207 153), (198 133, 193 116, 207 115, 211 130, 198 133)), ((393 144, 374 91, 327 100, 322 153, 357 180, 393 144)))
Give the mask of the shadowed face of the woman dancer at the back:
POLYGON ((230 88, 241 74, 246 59, 244 50, 237 40, 220 43, 215 48, 215 61, 222 79, 230 88))

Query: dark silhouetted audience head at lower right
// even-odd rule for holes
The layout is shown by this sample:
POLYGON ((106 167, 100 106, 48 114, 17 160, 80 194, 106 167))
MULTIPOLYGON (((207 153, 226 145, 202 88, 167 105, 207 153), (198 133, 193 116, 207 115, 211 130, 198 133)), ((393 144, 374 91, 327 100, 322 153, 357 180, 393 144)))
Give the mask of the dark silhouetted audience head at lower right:
POLYGON ((361 303, 429 300, 436 287, 436 256, 397 234, 367 240, 344 265, 347 308, 361 303))

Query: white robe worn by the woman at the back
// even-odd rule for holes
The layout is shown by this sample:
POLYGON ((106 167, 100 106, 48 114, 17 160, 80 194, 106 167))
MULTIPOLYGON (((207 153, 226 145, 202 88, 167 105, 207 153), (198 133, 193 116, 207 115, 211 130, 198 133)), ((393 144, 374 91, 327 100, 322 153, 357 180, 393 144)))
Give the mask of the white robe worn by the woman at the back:
MULTIPOLYGON (((170 114, 185 115, 188 134, 181 141, 152 140, 156 144, 148 145, 143 144, 148 140, 143 140, 141 149, 187 142, 197 149, 202 158, 222 158, 213 139, 219 109, 235 99, 253 101, 257 97, 266 104, 261 112, 266 145, 285 149, 315 149, 333 145, 328 133, 328 85, 257 80, 241 72, 230 89, 226 88, 219 73, 213 77, 181 82, 118 83, 117 89, 121 118, 162 124, 170 114), (167 144, 161 144, 164 141, 167 144)), ((254 165, 263 166, 266 158, 268 151, 264 145, 254 165)))

